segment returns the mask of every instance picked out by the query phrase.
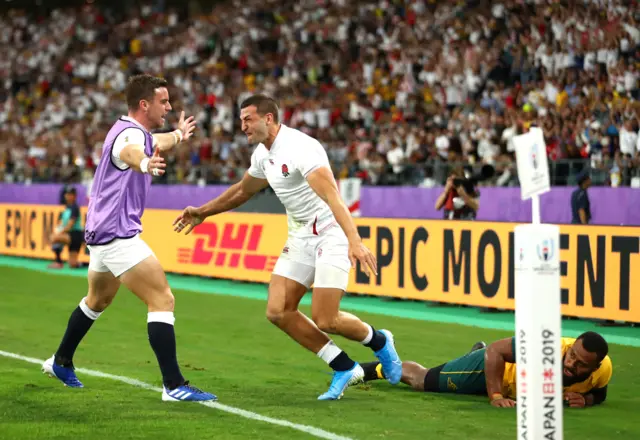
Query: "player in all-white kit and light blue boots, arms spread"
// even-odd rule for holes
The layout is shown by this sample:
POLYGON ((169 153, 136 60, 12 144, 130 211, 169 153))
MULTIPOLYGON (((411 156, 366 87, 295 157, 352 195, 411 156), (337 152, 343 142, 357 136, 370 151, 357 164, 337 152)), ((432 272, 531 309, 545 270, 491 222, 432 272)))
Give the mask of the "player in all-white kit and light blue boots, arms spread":
POLYGON ((362 367, 326 333, 342 335, 370 347, 385 377, 397 384, 402 362, 393 335, 375 330, 356 316, 340 311, 349 271, 356 261, 365 272, 377 273, 371 251, 358 235, 342 201, 327 154, 316 139, 279 122, 277 103, 254 95, 241 104, 242 131, 258 144, 242 180, 200 207, 189 206, 174 222, 190 233, 209 216, 237 208, 271 185, 287 211, 289 238, 269 283, 267 318, 334 370, 329 390, 319 400, 336 400, 363 380, 362 367), (298 310, 313 284, 311 319, 298 310))

